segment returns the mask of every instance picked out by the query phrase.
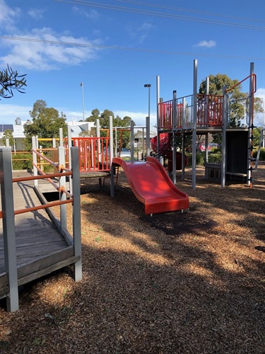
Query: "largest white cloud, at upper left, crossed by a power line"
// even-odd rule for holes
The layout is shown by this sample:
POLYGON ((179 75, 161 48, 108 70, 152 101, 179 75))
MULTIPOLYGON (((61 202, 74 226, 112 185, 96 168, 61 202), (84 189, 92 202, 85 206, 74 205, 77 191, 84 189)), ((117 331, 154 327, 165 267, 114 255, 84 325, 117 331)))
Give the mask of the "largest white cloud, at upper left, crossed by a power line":
POLYGON ((37 70, 59 69, 61 65, 73 66, 95 59, 98 49, 79 47, 74 44, 98 45, 101 43, 101 40, 89 41, 86 38, 61 35, 46 27, 35 28, 31 33, 14 34, 13 37, 29 38, 30 41, 2 40, 2 47, 9 48, 9 53, 1 57, 1 62, 4 64, 8 62, 11 67, 37 70), (42 40, 68 44, 47 43, 42 42, 42 40))

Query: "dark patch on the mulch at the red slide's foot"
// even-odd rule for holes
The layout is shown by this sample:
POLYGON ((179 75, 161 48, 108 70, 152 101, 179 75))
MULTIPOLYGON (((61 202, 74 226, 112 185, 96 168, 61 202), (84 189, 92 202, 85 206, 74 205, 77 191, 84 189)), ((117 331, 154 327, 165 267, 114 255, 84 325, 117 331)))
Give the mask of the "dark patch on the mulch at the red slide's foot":
POLYGON ((152 217, 146 215, 140 219, 147 222, 155 229, 160 229, 167 235, 197 234, 201 230, 213 229, 218 226, 217 222, 208 220, 201 215, 196 215, 193 210, 181 212, 167 212, 155 214, 152 217))

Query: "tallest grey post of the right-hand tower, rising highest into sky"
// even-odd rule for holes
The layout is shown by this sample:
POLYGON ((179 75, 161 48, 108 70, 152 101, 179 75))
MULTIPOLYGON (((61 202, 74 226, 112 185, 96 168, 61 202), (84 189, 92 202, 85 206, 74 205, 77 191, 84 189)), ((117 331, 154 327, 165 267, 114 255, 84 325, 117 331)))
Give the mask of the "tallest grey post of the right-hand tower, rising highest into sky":
POLYGON ((197 59, 194 59, 193 105, 192 105, 192 188, 196 189, 196 130, 197 130, 197 59))

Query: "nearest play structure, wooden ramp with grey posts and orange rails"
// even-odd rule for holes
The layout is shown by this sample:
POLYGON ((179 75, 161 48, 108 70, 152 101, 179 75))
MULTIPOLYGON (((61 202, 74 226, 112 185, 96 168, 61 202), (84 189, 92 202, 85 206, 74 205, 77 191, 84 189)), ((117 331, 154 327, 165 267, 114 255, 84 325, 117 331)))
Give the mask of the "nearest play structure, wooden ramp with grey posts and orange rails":
POLYGON ((63 147, 59 147, 59 164, 33 149, 33 166, 39 174, 13 178, 11 148, 0 148, 0 299, 6 298, 10 312, 18 309, 20 285, 70 264, 74 265, 75 280, 82 279, 79 152, 76 147, 70 150, 71 171, 65 168, 63 147), (35 163, 37 156, 57 172, 42 171, 35 163), (66 188, 66 177, 72 181, 71 193, 66 188), (47 202, 39 188, 43 181, 59 193, 59 200, 47 202), (68 203, 73 205, 72 235, 67 230, 68 203), (52 210, 57 205, 59 219, 52 210))

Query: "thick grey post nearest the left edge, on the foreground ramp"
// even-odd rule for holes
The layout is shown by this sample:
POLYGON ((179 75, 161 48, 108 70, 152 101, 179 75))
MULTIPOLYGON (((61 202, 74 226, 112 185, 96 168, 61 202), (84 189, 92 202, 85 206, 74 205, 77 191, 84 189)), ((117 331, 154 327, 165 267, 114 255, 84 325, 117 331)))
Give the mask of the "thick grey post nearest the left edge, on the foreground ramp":
POLYGON ((18 270, 16 263, 16 232, 10 147, 0 148, 0 172, 4 261, 9 286, 9 294, 6 298, 6 307, 9 312, 13 312, 18 310, 18 270))

